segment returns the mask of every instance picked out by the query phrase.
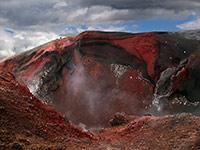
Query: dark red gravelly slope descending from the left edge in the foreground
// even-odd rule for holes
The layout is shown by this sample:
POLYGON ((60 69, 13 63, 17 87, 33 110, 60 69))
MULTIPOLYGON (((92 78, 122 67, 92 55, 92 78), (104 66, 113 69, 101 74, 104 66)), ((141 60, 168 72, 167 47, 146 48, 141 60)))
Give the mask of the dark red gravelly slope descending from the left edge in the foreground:
POLYGON ((0 149, 74 149, 94 140, 43 104, 12 73, 0 71, 0 149), (79 140, 77 140, 79 138, 79 140), (56 145, 54 144, 56 143, 56 145), (65 144, 63 144, 65 143, 65 144), (73 144, 70 144, 73 143, 73 144))

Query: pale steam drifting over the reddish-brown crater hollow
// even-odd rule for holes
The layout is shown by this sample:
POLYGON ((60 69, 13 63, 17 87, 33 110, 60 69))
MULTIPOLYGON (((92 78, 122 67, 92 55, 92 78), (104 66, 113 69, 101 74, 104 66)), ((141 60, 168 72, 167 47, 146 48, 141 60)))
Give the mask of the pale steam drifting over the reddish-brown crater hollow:
MULTIPOLYGON (((124 69, 121 70, 124 72, 124 69)), ((113 73, 116 73, 116 68, 113 73)), ((120 76, 114 76, 111 80, 115 81, 115 88, 106 79, 98 82, 90 78, 84 66, 77 65, 65 81, 64 97, 54 99, 54 107, 66 115, 71 123, 85 130, 96 131, 107 126, 116 112, 130 113, 136 108, 134 94, 121 91, 117 86, 120 76)))

